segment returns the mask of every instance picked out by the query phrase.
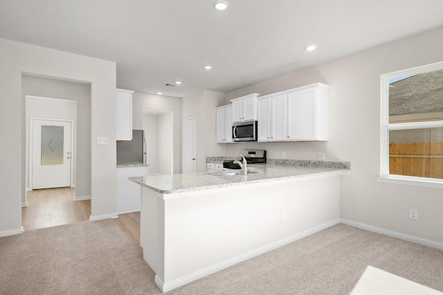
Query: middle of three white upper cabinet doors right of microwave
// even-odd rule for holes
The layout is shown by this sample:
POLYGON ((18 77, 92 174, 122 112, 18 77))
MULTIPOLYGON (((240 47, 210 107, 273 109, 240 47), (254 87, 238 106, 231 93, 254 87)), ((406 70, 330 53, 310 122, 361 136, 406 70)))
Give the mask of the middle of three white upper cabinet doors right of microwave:
POLYGON ((287 140, 287 95, 271 97, 271 141, 287 140))

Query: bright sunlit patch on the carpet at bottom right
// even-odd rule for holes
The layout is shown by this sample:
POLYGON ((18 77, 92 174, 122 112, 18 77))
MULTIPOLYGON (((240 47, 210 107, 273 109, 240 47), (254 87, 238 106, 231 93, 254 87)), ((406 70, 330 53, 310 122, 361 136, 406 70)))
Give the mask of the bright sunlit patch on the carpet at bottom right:
POLYGON ((430 287, 417 284, 368 265, 350 295, 443 295, 430 287))

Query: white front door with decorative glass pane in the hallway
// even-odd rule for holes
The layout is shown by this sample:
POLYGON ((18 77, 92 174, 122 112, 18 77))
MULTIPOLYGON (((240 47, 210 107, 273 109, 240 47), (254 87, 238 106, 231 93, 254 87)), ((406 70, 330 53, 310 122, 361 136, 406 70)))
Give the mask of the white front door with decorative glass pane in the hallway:
POLYGON ((71 187, 71 122, 33 120, 32 189, 71 187))

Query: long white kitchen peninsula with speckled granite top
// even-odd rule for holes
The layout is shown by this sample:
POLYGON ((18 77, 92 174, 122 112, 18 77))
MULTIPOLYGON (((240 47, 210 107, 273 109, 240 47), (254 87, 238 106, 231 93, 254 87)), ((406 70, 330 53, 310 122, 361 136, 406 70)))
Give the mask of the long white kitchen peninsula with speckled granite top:
POLYGON ((129 178, 142 187, 143 258, 163 292, 339 222, 350 162, 268 159, 248 171, 129 178))

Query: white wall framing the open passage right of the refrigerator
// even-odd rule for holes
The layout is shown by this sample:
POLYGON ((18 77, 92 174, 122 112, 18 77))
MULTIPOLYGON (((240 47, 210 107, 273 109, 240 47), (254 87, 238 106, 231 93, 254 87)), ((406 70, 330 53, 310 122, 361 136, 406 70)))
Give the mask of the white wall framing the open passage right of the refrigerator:
POLYGON ((174 173, 181 172, 181 98, 134 92, 132 95, 132 128, 143 129, 143 108, 172 112, 172 157, 174 173))

